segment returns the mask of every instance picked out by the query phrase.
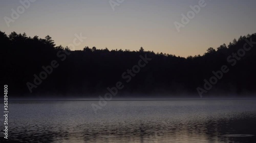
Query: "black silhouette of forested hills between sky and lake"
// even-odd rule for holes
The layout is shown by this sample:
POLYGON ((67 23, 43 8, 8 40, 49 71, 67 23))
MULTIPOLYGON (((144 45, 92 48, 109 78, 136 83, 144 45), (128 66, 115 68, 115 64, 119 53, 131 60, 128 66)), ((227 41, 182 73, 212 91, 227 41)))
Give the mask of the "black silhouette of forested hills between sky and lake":
MULTIPOLYGON (((208 48, 203 55, 183 58, 173 54, 129 49, 109 50, 84 47, 83 50, 70 50, 56 46, 50 36, 28 37, 12 32, 9 36, 0 31, 1 57, 3 58, 3 84, 8 84, 9 94, 17 97, 98 97, 108 92, 121 81, 124 88, 118 91, 124 95, 159 95, 179 97, 198 95, 197 88, 203 87, 204 79, 212 76, 227 65, 229 72, 205 93, 205 96, 253 95, 256 92, 256 50, 255 46, 246 52, 236 66, 227 61, 228 56, 243 48, 245 40, 256 41, 256 33, 234 39, 228 45, 217 49, 208 48), (146 55, 152 60, 141 68, 130 82, 125 82, 122 73, 132 69, 146 55), (56 61, 52 63, 52 61, 56 61), (57 65, 39 85, 33 87, 34 75, 45 71, 48 66, 57 65), (44 67, 44 68, 42 68, 44 67)), ((47 72, 47 70, 45 71, 47 72)))

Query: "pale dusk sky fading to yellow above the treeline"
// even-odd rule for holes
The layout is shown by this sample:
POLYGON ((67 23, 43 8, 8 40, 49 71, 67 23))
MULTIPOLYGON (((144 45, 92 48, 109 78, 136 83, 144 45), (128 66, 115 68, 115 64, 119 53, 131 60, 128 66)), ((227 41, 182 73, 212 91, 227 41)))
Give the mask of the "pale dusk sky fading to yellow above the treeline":
POLYGON ((209 47, 256 33, 255 0, 33 1, 1 1, 0 31, 40 38, 50 35, 62 46, 72 44, 75 34, 87 37, 73 50, 143 47, 183 57, 202 55, 209 47), (200 11, 182 23, 182 14, 191 14, 189 6, 199 3, 203 3, 200 11), (18 16, 12 16, 13 11, 18 16), (175 22, 183 24, 179 32, 175 22))

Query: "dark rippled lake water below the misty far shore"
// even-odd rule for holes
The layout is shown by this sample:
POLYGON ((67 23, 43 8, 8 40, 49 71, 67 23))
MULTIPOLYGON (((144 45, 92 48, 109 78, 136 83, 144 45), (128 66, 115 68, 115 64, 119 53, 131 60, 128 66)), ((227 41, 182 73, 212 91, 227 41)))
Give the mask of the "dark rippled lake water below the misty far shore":
POLYGON ((256 142, 256 100, 108 101, 97 113, 92 103, 11 102, 8 141, 256 142))

